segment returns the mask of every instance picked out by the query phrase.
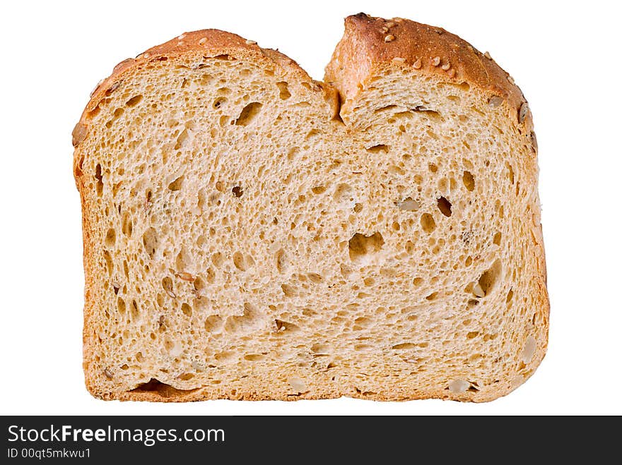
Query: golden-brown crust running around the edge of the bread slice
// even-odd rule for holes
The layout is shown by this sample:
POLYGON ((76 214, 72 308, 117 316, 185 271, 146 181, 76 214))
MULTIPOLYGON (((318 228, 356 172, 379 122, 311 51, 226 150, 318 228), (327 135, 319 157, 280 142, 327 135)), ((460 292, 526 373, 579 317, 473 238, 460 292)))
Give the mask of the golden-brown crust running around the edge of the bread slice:
MULTIPOLYGON (((441 28, 435 28, 410 20, 394 18, 384 20, 382 18, 372 18, 364 13, 349 16, 346 18, 346 32, 344 38, 339 42, 331 61, 326 68, 326 83, 313 81, 310 76, 300 68, 298 64, 280 52, 262 49, 255 42, 248 41, 230 32, 221 30, 199 30, 187 32, 173 40, 160 44, 146 50, 136 56, 135 59, 126 59, 112 71, 112 74, 102 80, 93 91, 90 101, 83 111, 80 121, 74 128, 74 176, 76 186, 81 194, 83 212, 83 261, 85 268, 85 308, 84 308, 84 330, 83 330, 83 351, 84 351, 84 370, 86 375, 86 387, 95 397, 102 399, 136 400, 136 401, 197 401, 202 399, 329 399, 348 395, 348 397, 358 397, 361 399, 375 400, 411 400, 411 399, 455 399, 455 400, 476 400, 489 401, 511 392, 516 386, 504 382, 498 387, 487 389, 486 392, 474 399, 468 393, 450 394, 446 389, 438 392, 429 391, 426 395, 421 395, 413 389, 413 392, 404 395, 387 394, 367 394, 361 392, 338 392, 329 387, 315 386, 315 394, 302 393, 298 395, 275 394, 274 392, 256 392, 256 388, 249 386, 244 392, 225 392, 218 389, 192 389, 184 391, 175 389, 168 385, 156 386, 153 389, 133 389, 129 392, 111 392, 110 394, 100 394, 100 389, 95 386, 95 380, 90 377, 88 364, 93 360, 92 353, 97 335, 93 328, 93 296, 90 295, 95 281, 95 257, 90 255, 95 250, 94 229, 90 218, 92 208, 88 205, 85 195, 85 186, 82 179, 81 163, 86 155, 81 150, 81 142, 88 137, 89 114, 98 107, 98 104, 105 99, 107 92, 114 90, 115 86, 124 80, 126 76, 134 71, 148 66, 153 61, 175 59, 179 56, 219 56, 230 55, 240 59, 248 59, 259 63, 266 63, 269 66, 278 66, 292 79, 302 80, 313 83, 318 89, 322 89, 327 101, 334 101, 335 111, 339 108, 337 102, 337 92, 339 90, 342 111, 347 111, 348 103, 356 98, 357 93, 365 85, 364 80, 374 71, 386 68, 387 66, 409 67, 415 72, 433 76, 440 80, 447 80, 453 83, 467 82, 469 85, 479 87, 481 90, 490 92, 491 95, 498 95, 505 99, 510 107, 517 111, 517 123, 520 124, 521 132, 532 133, 531 114, 527 114, 519 121, 519 112, 525 100, 520 89, 513 84, 510 76, 503 71, 492 59, 489 59, 470 44, 441 28), (389 24, 390 23, 390 24, 389 24), (386 30, 385 30, 386 28, 386 30), (397 61, 396 61, 397 59, 397 61), (336 90, 335 90, 336 89, 336 90)), ((534 147, 533 157, 536 157, 534 147)), ((539 263, 539 300, 541 306, 539 311, 543 316, 546 329, 544 334, 548 334, 548 295, 546 293, 546 265, 544 260, 544 246, 541 235, 541 225, 539 217, 534 218, 534 225, 539 231, 534 237, 539 263), (537 224, 536 224, 537 222, 537 224)), ((544 357, 546 352, 546 340, 539 341, 539 350, 534 354, 534 358, 544 357)))

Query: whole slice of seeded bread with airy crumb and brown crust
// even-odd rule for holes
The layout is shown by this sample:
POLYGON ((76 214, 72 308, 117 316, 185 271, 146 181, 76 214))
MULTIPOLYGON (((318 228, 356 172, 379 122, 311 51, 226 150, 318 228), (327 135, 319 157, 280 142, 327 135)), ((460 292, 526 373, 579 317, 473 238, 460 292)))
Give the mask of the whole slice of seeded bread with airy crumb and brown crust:
POLYGON ((351 16, 325 83, 182 34, 73 143, 95 397, 488 401, 544 357, 532 116, 445 30, 351 16))

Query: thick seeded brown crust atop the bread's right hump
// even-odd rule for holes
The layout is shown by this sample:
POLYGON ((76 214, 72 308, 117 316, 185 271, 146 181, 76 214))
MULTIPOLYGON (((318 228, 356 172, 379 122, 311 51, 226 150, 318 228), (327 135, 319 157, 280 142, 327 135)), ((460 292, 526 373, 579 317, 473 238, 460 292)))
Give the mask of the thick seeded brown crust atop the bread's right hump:
POLYGON ((347 103, 362 90, 365 78, 389 66, 476 85, 507 100, 517 111, 525 102, 512 77, 490 54, 482 54, 457 35, 404 18, 385 20, 365 13, 345 19, 344 36, 326 67, 324 80, 337 87, 342 102, 347 103))

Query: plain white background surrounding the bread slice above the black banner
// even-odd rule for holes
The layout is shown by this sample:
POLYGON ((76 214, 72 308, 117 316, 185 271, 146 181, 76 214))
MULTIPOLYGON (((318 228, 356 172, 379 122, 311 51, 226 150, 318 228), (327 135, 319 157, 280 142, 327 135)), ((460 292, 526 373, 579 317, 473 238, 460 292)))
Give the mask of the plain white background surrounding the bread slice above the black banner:
POLYGON ((0 18, 0 414, 622 413, 622 99, 615 2, 27 1, 0 18), (578 4, 578 2, 577 2, 578 4), (507 5, 507 6, 505 6, 507 5), (365 11, 440 25, 512 74, 540 149, 551 296, 548 355, 489 404, 105 402, 83 385, 81 210, 71 130, 112 66, 189 30, 279 48, 321 79, 343 18, 365 11))

